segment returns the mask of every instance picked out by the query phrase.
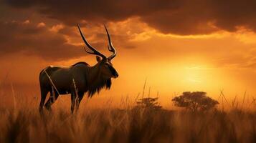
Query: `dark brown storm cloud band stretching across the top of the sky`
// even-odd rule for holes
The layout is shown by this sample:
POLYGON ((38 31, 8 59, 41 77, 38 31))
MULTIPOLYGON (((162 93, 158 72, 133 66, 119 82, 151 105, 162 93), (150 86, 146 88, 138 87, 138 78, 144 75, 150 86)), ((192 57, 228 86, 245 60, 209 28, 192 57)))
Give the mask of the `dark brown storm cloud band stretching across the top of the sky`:
POLYGON ((163 33, 209 34, 219 29, 236 31, 238 26, 256 31, 255 0, 9 0, 15 8, 34 6, 40 14, 73 25, 77 21, 121 21, 139 16, 163 33))

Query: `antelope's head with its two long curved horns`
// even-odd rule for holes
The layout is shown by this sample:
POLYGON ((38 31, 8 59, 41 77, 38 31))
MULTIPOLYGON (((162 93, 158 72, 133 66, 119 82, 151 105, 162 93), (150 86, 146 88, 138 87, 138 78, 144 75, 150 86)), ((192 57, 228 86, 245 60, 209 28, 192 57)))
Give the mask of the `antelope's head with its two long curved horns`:
POLYGON ((106 30, 107 35, 108 35, 108 50, 112 52, 112 54, 110 56, 108 56, 108 58, 104 54, 100 53, 100 51, 93 48, 93 46, 91 46, 87 42, 87 40, 85 39, 85 36, 82 34, 82 31, 80 29, 79 24, 77 24, 77 27, 80 31, 81 36, 82 36, 82 40, 85 42, 85 45, 91 50, 91 51, 87 51, 84 47, 85 51, 89 54, 96 55, 96 59, 98 61, 97 65, 99 66, 100 74, 103 75, 103 78, 105 78, 105 79, 110 79, 112 77, 117 78, 118 77, 118 72, 115 70, 115 68, 113 67, 113 64, 111 63, 111 60, 116 55, 116 51, 115 51, 115 47, 113 46, 113 44, 111 42, 110 34, 108 33, 107 27, 105 26, 105 30, 106 30))

